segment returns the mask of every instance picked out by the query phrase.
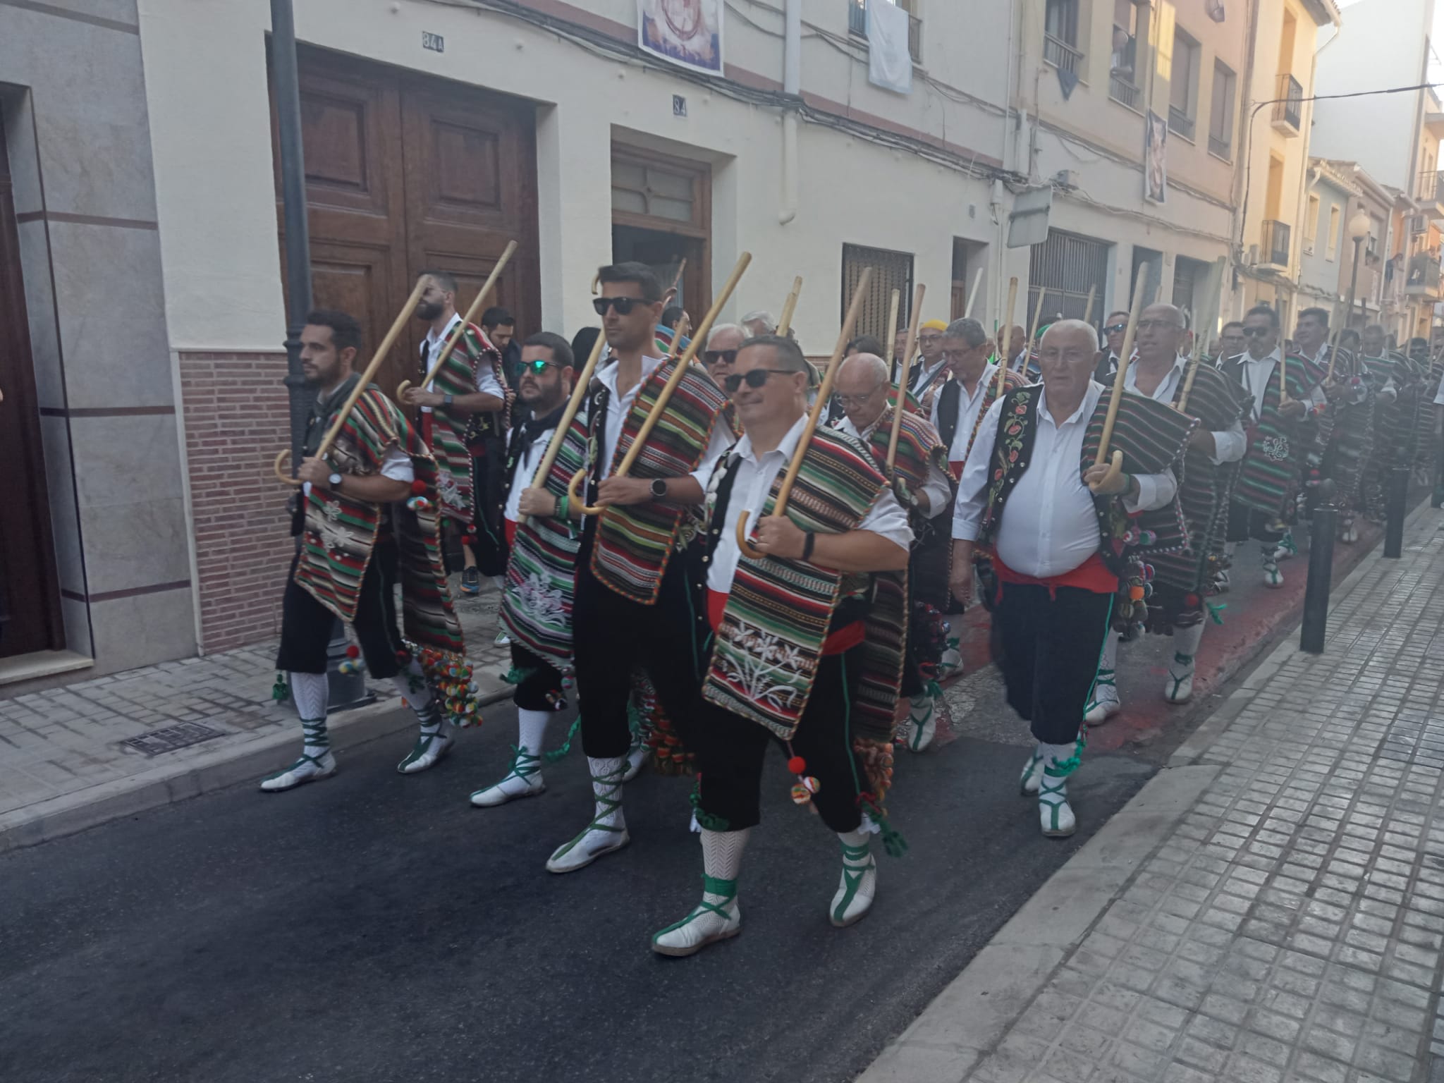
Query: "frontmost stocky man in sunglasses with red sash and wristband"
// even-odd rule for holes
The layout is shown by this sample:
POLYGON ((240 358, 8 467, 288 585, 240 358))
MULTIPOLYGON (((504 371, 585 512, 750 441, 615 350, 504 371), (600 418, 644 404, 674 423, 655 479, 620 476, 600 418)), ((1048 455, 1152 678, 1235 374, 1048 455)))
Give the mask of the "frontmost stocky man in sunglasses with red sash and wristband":
POLYGON ((703 544, 689 553, 713 631, 686 735, 697 761, 703 894, 653 937, 653 950, 669 956, 741 931, 736 878, 774 742, 797 777, 793 799, 810 803, 842 845, 835 926, 872 907, 869 822, 894 838, 881 801, 902 661, 907 513, 858 440, 819 427, 800 446, 807 361, 793 341, 749 339, 726 388, 745 432, 712 474, 703 544), (786 514, 768 514, 797 455, 786 514), (755 557, 738 543, 744 511, 755 557))

